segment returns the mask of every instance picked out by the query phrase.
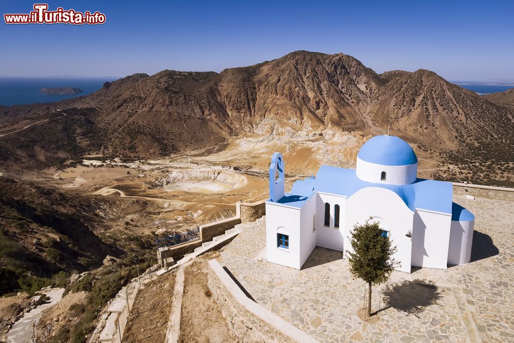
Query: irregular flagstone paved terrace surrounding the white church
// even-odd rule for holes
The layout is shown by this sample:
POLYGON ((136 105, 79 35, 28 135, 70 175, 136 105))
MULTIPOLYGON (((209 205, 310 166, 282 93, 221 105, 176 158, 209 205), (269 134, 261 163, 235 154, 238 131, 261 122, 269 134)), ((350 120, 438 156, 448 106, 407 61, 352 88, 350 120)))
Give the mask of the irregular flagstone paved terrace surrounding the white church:
POLYGON ((352 279, 341 252, 316 247, 301 271, 258 261, 265 227, 256 225, 226 247, 221 263, 259 304, 319 341, 514 341, 514 202, 454 201, 476 216, 472 262, 394 272, 373 289, 373 310, 382 309, 375 324, 357 316, 365 284, 352 279))

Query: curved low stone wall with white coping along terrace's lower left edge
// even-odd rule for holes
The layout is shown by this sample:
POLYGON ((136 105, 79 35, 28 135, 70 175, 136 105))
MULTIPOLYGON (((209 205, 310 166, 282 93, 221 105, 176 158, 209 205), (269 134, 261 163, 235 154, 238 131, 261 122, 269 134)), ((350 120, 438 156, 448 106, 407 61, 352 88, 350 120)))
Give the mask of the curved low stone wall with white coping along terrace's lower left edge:
POLYGON ((208 286, 232 332, 243 342, 316 342, 300 329, 249 299, 216 260, 208 286))

